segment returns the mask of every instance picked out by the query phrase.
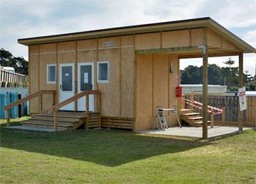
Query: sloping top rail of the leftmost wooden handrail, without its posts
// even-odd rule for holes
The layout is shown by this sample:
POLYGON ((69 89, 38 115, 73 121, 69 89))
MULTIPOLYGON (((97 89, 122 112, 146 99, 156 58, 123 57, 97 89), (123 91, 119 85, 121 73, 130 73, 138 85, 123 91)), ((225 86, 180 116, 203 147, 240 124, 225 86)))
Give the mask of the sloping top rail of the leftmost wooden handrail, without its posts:
POLYGON ((28 100, 31 100, 33 98, 36 98, 38 96, 44 95, 44 94, 55 94, 56 91, 54 90, 42 90, 42 91, 38 91, 36 93, 33 93, 30 96, 26 96, 25 98, 22 98, 21 100, 18 100, 14 103, 10 103, 9 105, 4 106, 4 110, 9 110, 10 108, 14 108, 16 105, 20 105, 21 103, 24 103, 28 100))

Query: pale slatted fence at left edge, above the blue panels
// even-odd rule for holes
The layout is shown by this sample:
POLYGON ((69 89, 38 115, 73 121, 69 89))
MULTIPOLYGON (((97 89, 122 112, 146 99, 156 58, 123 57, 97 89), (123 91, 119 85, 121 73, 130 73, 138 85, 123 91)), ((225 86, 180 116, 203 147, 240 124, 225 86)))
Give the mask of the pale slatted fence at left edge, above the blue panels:
POLYGON ((28 86, 27 81, 26 75, 0 69, 0 87, 26 87, 28 86))

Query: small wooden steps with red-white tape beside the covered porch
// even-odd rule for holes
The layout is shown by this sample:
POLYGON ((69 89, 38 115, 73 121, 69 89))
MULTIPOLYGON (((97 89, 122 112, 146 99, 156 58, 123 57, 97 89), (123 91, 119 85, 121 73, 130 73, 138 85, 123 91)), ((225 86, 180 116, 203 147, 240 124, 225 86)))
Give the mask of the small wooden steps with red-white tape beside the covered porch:
MULTIPOLYGON (((202 127, 203 126, 203 117, 199 116, 200 113, 194 113, 193 109, 181 109, 179 111, 181 115, 181 120, 187 122, 193 127, 202 127)), ((210 121, 208 121, 210 123, 210 121)))

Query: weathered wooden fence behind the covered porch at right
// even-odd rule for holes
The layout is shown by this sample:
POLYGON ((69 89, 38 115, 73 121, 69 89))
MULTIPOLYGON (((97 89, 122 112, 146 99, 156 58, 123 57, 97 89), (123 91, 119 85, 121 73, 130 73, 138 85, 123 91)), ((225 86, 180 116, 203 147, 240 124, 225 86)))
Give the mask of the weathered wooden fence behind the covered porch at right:
MULTIPOLYGON (((191 99, 191 96, 186 96, 191 99)), ((202 96, 194 96, 193 100, 203 102, 202 96)), ((216 108, 224 108, 225 124, 238 125, 239 98, 238 96, 208 96, 208 105, 216 108)), ((186 108, 190 108, 186 105, 186 108)), ((195 109, 195 112, 201 113, 202 110, 195 109)), ((243 113, 243 121, 245 126, 256 127, 256 96, 247 96, 247 110, 243 113)), ((210 120, 210 115, 208 115, 210 120)), ((214 121, 221 123, 221 115, 215 115, 214 121)))

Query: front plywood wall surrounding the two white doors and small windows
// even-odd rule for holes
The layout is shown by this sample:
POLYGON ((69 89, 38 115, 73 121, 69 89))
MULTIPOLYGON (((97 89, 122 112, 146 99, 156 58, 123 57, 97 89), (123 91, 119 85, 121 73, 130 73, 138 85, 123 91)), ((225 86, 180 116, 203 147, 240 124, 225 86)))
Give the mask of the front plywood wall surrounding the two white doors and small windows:
MULTIPOLYGON (((57 90, 47 84, 47 64, 95 62, 95 89, 102 92, 102 115, 134 117, 134 35, 78 40, 30 46, 30 93, 57 90), (114 46, 103 42, 114 41, 114 46), (97 84, 97 61, 110 62, 110 82, 97 84)), ((58 70, 57 70, 58 79, 58 70)), ((43 97, 43 108, 52 105, 52 98, 43 97)), ((31 101, 31 113, 38 113, 38 100, 31 101)))

